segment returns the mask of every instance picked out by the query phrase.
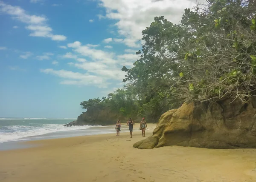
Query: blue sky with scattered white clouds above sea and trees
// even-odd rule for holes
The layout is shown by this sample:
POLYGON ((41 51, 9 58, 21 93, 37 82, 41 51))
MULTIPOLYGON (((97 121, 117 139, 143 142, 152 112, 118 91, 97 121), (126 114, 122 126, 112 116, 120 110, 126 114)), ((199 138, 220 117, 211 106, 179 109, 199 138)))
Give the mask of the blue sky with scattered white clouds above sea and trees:
POLYGON ((0 117, 75 118, 122 87, 141 31, 196 0, 0 0, 0 117))

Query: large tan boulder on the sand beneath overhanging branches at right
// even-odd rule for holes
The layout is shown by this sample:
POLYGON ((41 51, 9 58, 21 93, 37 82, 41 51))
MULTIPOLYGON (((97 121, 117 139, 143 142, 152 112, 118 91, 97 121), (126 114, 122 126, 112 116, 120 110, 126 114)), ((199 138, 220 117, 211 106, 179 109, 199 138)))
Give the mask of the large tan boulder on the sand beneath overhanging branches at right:
POLYGON ((256 148, 256 98, 231 101, 184 103, 167 111, 153 135, 134 147, 256 148))

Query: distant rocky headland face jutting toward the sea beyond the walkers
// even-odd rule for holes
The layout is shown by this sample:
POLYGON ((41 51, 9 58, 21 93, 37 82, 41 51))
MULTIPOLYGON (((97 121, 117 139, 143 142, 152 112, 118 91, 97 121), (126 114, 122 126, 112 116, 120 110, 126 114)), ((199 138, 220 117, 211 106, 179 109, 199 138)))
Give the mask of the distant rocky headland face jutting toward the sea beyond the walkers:
POLYGON ((111 111, 108 107, 90 107, 86 112, 80 114, 76 121, 70 122, 64 126, 74 125, 112 125, 117 119, 121 122, 127 121, 128 118, 122 117, 119 113, 111 111))

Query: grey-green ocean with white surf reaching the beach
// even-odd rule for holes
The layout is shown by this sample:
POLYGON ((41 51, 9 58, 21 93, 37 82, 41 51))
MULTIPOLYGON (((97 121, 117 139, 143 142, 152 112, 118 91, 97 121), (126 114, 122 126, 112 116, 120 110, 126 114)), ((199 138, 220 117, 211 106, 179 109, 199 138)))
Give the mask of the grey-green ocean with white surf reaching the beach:
MULTIPOLYGON (((72 126, 63 125, 76 118, 0 118, 0 149, 3 144, 23 140, 53 139, 83 135, 115 133, 115 126, 72 126)), ((122 132, 127 132, 122 127, 122 132)), ((9 144, 8 144, 9 145, 9 144)))

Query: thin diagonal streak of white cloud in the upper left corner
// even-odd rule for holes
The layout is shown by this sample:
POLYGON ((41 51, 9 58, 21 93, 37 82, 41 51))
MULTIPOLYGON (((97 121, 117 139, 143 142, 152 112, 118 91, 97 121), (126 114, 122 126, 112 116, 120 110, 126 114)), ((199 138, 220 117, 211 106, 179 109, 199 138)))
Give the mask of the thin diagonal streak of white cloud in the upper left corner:
MULTIPOLYGON (((39 2, 38 0, 31 0, 32 3, 39 2)), ((33 37, 49 37, 52 40, 62 41, 67 37, 64 35, 52 34, 52 28, 47 25, 47 18, 44 16, 36 16, 28 14, 24 9, 19 6, 12 6, 3 1, 0 1, 0 12, 6 13, 12 16, 13 19, 26 23, 26 29, 32 31, 30 36, 33 37)))

